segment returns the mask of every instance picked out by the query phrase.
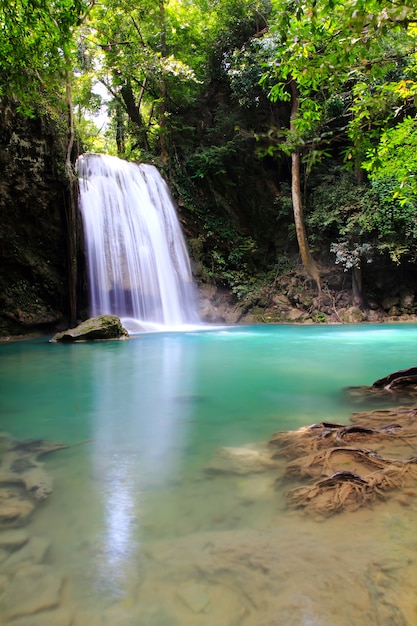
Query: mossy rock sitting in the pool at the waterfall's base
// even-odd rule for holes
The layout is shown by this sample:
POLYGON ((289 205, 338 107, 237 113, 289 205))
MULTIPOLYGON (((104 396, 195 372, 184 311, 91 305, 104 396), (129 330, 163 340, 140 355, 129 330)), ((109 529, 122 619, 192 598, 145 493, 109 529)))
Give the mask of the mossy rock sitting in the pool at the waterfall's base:
POLYGON ((56 333, 53 342, 96 341, 102 339, 126 339, 129 333, 117 315, 98 315, 82 322, 75 328, 56 333))

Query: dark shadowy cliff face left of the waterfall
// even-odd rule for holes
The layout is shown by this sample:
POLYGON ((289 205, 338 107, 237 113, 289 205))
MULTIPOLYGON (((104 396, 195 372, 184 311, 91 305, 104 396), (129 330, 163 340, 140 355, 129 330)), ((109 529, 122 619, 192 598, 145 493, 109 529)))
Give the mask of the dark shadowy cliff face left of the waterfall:
POLYGON ((0 105, 0 336, 66 323, 64 158, 52 122, 0 105))

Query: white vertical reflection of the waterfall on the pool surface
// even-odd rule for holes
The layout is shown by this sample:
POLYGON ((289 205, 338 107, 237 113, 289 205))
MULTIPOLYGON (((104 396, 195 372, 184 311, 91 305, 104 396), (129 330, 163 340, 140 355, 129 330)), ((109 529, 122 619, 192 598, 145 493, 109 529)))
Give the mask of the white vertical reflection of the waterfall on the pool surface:
POLYGON ((191 423, 192 404, 178 398, 193 395, 194 351, 174 336, 155 347, 97 351, 92 361, 91 463, 104 525, 97 576, 116 594, 132 571, 140 575, 147 493, 180 480, 191 423))

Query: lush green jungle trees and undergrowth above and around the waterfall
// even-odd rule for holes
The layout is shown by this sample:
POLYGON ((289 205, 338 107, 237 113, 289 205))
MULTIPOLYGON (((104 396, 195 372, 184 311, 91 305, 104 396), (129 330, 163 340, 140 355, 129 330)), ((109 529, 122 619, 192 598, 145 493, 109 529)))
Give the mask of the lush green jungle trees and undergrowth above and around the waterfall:
POLYGON ((359 299, 365 263, 416 262, 415 0, 0 0, 0 27, 0 98, 56 120, 68 175, 77 151, 162 168, 238 298, 291 247, 359 299))

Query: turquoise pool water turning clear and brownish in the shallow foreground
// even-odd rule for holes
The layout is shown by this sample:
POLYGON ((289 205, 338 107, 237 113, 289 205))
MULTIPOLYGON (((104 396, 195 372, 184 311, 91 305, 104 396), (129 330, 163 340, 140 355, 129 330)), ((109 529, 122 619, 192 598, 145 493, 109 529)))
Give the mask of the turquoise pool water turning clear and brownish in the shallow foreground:
POLYGON ((1 429, 70 446, 42 459, 54 492, 28 525, 65 577, 53 610, 75 626, 417 623, 417 492, 323 521, 287 509, 278 470, 206 471, 222 446, 348 423, 342 389, 416 365, 416 346, 415 325, 0 345, 1 429))

